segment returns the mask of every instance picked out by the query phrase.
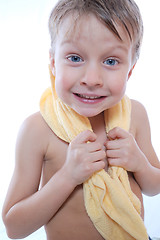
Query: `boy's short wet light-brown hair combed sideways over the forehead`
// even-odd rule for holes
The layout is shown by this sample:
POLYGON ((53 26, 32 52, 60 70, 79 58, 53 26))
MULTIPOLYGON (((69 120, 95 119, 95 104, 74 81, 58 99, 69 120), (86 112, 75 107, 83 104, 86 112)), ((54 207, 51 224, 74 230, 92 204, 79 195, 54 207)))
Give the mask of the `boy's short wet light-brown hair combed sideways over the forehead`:
POLYGON ((83 15, 95 15, 120 40, 122 39, 116 29, 116 24, 121 24, 133 43, 134 58, 139 58, 143 37, 143 21, 134 0, 59 0, 49 17, 49 32, 53 51, 61 23, 67 16, 74 14, 76 14, 76 20, 83 15))

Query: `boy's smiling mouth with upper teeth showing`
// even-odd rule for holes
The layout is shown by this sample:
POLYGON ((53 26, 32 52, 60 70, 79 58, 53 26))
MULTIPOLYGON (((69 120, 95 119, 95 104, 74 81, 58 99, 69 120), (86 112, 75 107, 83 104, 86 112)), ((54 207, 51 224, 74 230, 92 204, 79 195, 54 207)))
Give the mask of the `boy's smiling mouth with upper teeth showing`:
POLYGON ((79 94, 79 93, 74 93, 74 96, 79 101, 84 103, 98 103, 105 98, 105 96, 98 96, 93 94, 79 94))

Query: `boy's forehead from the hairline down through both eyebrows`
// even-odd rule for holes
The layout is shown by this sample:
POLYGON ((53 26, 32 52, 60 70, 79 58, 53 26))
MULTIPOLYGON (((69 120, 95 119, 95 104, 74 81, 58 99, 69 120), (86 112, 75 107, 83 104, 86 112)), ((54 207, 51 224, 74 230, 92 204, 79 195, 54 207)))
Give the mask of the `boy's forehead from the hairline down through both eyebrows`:
MULTIPOLYGON (((122 24, 115 23, 120 38, 114 34, 102 21, 93 14, 77 17, 68 16, 59 27, 56 37, 56 49, 63 46, 77 46, 86 49, 92 45, 96 49, 106 51, 107 49, 121 49, 132 51, 132 43, 122 24), (69 45, 68 45, 69 44, 69 45)), ((63 49, 63 48, 62 48, 63 49)))

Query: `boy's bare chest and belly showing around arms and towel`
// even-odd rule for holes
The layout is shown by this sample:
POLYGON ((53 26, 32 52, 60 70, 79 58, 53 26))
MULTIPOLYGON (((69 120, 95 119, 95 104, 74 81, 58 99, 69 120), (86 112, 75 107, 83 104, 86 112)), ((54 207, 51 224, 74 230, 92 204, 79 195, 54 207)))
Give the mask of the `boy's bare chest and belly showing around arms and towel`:
MULTIPOLYGON (((68 143, 57 138, 50 131, 49 145, 46 153, 42 186, 62 167, 66 159, 68 143)), ((131 133, 134 135, 134 130, 131 128, 131 133)), ((106 140, 106 134, 99 134, 97 141, 102 144, 106 140)), ((106 160, 105 160, 106 161, 106 160)), ((106 167, 107 169, 107 167, 106 167)), ((143 200, 139 185, 134 180, 133 174, 129 173, 129 180, 132 191, 138 196, 142 204, 142 218, 144 215, 143 200)), ((82 185, 76 187, 70 197, 65 201, 53 218, 45 226, 47 240, 102 240, 103 238, 93 226, 89 219, 83 200, 82 185)))

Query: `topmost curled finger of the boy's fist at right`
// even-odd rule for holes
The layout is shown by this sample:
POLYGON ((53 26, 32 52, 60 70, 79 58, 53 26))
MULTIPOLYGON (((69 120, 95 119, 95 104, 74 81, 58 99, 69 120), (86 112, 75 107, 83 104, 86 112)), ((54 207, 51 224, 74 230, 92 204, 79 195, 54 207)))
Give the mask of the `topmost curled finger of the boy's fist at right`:
POLYGON ((119 138, 127 138, 129 135, 129 132, 127 132, 126 130, 122 129, 122 128, 119 128, 119 127, 115 127, 113 129, 111 129, 109 132, 108 132, 108 139, 119 139, 119 138))

